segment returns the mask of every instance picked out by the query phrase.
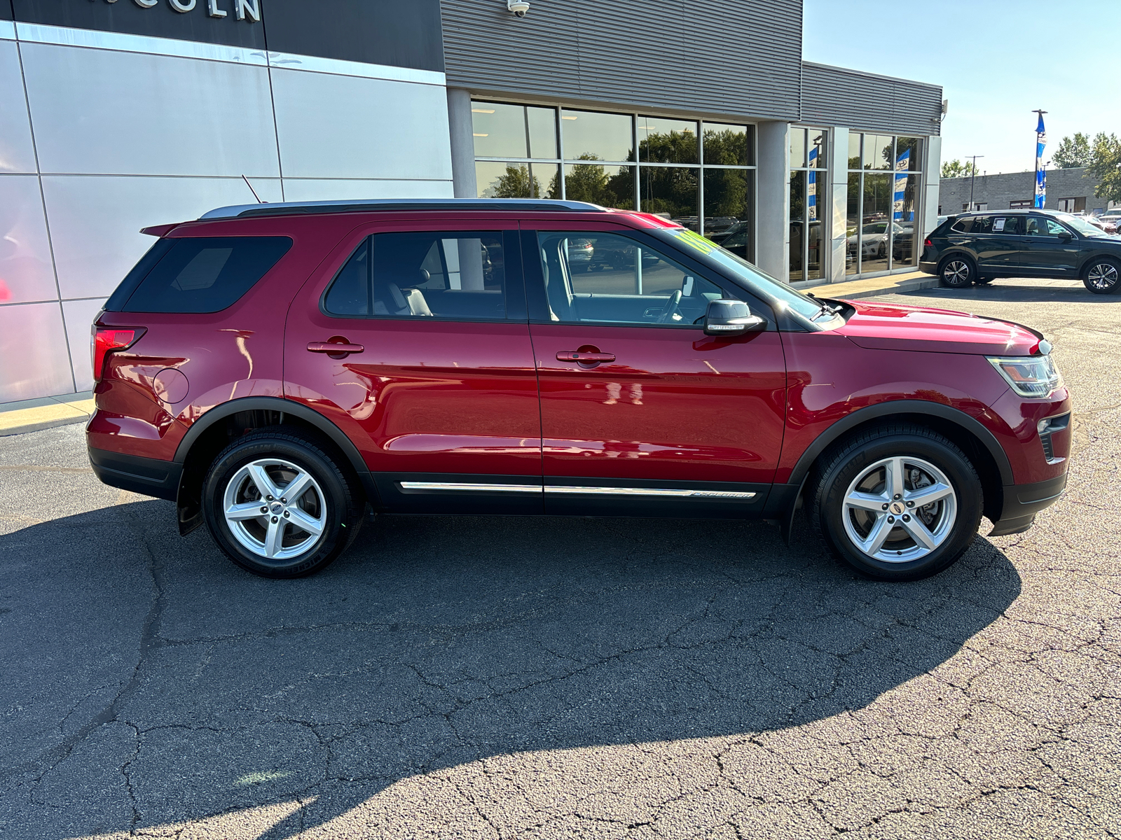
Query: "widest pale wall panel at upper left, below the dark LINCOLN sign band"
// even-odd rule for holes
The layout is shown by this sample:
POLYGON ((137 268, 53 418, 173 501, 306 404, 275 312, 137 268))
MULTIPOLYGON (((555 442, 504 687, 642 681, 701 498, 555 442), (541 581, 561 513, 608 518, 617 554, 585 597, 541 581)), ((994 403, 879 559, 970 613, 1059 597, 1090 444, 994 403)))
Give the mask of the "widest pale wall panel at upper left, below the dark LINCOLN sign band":
POLYGON ((265 67, 21 48, 43 172, 279 175, 265 67))

